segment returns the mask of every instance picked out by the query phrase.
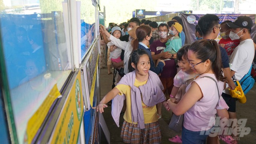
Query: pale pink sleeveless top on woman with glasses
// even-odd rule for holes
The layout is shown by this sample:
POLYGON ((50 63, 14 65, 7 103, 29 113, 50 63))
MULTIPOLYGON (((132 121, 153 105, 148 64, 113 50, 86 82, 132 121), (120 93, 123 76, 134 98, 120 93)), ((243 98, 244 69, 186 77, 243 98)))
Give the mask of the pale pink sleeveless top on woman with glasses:
MULTIPOLYGON (((224 82, 216 80, 219 88, 218 93, 216 83, 212 79, 203 76, 210 76, 216 80, 215 74, 201 74, 191 82, 196 82, 203 93, 203 98, 184 113, 183 126, 194 132, 209 130, 215 124, 216 105, 224 88, 224 82)), ((191 83, 187 86, 186 91, 190 88, 191 83)))

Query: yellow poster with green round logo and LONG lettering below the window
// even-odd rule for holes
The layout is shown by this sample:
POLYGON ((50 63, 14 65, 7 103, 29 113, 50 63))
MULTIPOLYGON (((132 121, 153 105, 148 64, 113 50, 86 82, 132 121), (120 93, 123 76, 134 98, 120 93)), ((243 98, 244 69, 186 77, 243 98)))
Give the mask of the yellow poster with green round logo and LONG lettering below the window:
POLYGON ((61 114, 50 138, 51 144, 76 144, 84 115, 84 100, 81 89, 81 71, 78 71, 61 114))

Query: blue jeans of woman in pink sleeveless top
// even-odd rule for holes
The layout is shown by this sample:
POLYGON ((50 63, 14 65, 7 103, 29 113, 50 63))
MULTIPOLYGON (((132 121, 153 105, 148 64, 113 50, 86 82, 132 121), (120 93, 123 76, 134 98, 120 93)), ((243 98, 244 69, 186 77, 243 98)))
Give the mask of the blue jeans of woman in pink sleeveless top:
POLYGON ((194 132, 182 127, 182 144, 206 144, 209 130, 194 132))

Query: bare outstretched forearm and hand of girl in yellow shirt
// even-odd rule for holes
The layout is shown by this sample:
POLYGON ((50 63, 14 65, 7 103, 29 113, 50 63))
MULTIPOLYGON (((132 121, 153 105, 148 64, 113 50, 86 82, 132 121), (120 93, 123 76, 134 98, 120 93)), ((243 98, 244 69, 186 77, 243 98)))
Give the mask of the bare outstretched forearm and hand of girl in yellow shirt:
POLYGON ((93 107, 93 109, 96 109, 96 111, 102 113, 104 112, 104 108, 107 108, 108 106, 105 104, 112 100, 114 97, 116 97, 117 94, 119 94, 120 91, 117 88, 113 88, 110 92, 108 92, 105 97, 99 102, 99 105, 96 107, 93 107))

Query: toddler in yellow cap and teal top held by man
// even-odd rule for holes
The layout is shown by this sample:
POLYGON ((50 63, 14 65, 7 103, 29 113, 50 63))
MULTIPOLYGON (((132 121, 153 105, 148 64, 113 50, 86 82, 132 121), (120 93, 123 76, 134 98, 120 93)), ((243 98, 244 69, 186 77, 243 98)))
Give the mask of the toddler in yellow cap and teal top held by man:
POLYGON ((181 48, 182 46, 182 42, 181 42, 181 33, 182 31, 182 26, 181 24, 175 22, 174 24, 172 24, 171 27, 171 31, 169 33, 171 33, 172 36, 167 42, 166 42, 166 49, 164 50, 164 52, 169 52, 171 54, 176 54, 178 52, 178 50, 181 48))

